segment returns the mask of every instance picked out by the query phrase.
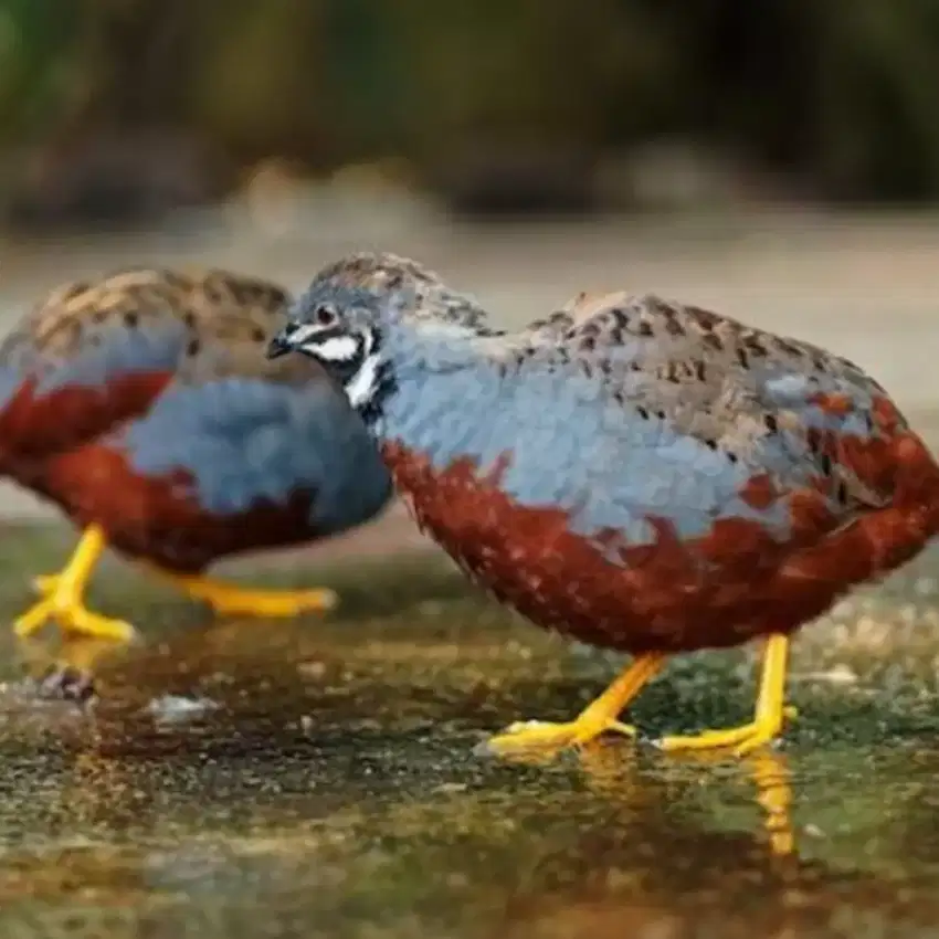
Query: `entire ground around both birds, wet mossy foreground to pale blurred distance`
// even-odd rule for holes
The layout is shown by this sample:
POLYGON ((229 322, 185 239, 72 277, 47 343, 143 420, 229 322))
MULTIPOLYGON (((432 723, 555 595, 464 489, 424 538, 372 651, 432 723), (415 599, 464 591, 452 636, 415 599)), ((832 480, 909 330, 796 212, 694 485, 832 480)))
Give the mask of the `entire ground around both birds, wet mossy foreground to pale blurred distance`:
MULTIPOLYGON (((341 252, 392 247, 507 323, 627 286, 830 345, 939 443, 935 220, 486 232, 372 209, 246 225, 235 207, 159 236, 10 242, 0 327, 55 283, 126 263, 299 286, 341 252)), ((13 520, 35 514, 0 489, 0 624, 72 544, 13 520)), ((95 606, 133 619, 138 647, 14 645, 0 627, 4 939, 939 933, 939 549, 803 632, 800 717, 778 752, 746 761, 630 742, 542 767, 474 756, 516 718, 571 715, 616 663, 481 599, 397 511, 328 552, 234 570, 321 580, 342 603, 327 620, 213 624, 112 559, 95 606), (39 703, 23 678, 63 658, 94 662, 91 713, 39 703)), ((675 662, 633 717, 650 734, 739 721, 749 655, 675 662)))

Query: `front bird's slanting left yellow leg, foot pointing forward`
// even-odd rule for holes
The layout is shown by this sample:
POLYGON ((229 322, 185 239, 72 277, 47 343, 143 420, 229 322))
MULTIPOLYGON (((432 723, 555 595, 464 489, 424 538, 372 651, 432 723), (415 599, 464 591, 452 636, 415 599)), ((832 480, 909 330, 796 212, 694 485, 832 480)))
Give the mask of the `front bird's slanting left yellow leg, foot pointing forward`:
POLYGON ((573 720, 565 724, 518 721, 502 734, 490 737, 482 749, 497 756, 511 756, 580 746, 605 731, 634 737, 635 728, 621 724, 616 718, 643 686, 662 669, 665 661, 666 656, 661 653, 642 655, 573 720))

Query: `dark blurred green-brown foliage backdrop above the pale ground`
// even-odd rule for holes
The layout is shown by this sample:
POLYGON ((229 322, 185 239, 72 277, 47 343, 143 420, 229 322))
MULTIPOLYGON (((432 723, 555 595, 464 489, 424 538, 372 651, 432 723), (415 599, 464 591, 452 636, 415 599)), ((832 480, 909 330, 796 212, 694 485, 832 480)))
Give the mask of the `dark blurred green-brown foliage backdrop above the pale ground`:
POLYGON ((9 223, 260 166, 476 213, 939 194, 939 0, 0 0, 9 223))

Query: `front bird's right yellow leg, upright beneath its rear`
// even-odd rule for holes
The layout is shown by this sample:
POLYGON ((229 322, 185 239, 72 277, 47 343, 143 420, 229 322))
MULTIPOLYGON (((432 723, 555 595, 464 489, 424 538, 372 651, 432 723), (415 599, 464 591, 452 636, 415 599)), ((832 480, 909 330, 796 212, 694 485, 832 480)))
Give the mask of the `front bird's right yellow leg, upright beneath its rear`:
POLYGON ((795 708, 785 707, 785 671, 789 636, 777 634, 767 640, 757 710, 751 724, 728 730, 706 730, 693 737, 663 737, 663 750, 710 750, 732 747, 737 756, 770 743, 782 730, 785 718, 795 717, 795 708))

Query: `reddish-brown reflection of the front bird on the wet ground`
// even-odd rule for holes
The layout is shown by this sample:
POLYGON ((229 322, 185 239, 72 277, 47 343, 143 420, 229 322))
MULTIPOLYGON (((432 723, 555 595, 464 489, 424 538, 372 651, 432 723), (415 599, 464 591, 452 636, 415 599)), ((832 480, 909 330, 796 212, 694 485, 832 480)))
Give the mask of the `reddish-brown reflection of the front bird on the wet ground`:
POLYGON ((608 812, 598 809, 577 838, 540 857, 527 888, 506 903, 494 939, 599 939, 642 930, 678 937, 709 929, 721 937, 829 937, 877 924, 939 921, 929 891, 907 878, 800 855, 783 755, 708 756, 666 768, 598 743, 581 751, 579 768, 608 812), (749 821, 739 799, 743 787, 750 808, 759 809, 749 821))

